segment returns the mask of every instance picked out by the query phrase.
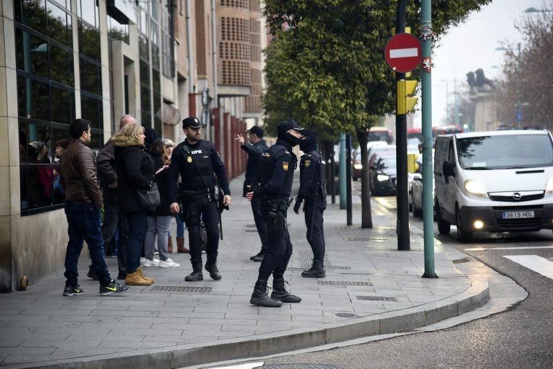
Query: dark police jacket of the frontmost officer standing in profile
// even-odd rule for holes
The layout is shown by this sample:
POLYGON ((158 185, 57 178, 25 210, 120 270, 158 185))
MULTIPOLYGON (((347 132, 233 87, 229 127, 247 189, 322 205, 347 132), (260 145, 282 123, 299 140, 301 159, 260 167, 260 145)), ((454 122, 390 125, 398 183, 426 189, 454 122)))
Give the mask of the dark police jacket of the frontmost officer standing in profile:
POLYGON ((277 140, 259 160, 259 187, 254 189, 254 196, 285 198, 292 191, 294 169, 297 158, 292 153, 292 146, 283 140, 277 140))

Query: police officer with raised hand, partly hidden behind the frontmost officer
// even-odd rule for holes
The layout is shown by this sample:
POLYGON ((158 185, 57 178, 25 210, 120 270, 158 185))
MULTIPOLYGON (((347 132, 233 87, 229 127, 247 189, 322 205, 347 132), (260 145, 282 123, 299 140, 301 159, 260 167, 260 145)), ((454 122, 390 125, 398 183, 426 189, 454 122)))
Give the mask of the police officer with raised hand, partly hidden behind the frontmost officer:
MULTIPOLYGON (((263 140, 265 131, 260 126, 252 126, 252 128, 245 131, 250 135, 250 143, 245 142, 242 135, 236 135, 234 140, 238 141, 241 145, 241 149, 247 152, 247 166, 246 174, 243 186, 243 197, 247 192, 250 192, 257 185, 257 176, 259 174, 259 160, 261 154, 267 151, 269 148, 263 140)), ((254 213, 255 226, 259 238, 261 238, 261 251, 254 256, 250 256, 250 260, 262 261, 265 254, 265 240, 267 239, 267 223, 261 216, 261 198, 252 199, 252 211, 254 213)))

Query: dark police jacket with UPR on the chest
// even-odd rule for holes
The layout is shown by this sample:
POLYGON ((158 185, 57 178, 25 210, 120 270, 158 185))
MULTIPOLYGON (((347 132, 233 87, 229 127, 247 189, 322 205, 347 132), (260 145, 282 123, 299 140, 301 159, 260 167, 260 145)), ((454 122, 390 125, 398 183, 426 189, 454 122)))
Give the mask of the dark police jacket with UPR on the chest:
POLYGON ((221 182, 225 195, 230 195, 227 169, 221 156, 212 142, 200 140, 189 144, 188 140, 176 146, 171 156, 171 164, 167 173, 167 189, 169 202, 177 202, 177 180, 180 174, 180 187, 186 190, 205 189, 205 186, 216 185, 216 178, 221 182), (194 164, 196 162, 196 165, 194 164), (198 171, 199 169, 199 171, 198 171), (205 183, 204 183, 205 182, 205 183))

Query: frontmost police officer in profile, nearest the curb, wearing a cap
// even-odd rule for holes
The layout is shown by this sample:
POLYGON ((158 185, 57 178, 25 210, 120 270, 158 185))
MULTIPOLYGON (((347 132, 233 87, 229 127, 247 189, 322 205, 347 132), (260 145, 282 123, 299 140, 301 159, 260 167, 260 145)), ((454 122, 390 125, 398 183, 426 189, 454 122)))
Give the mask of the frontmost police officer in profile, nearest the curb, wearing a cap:
POLYGON ((279 308, 282 303, 299 303, 298 296, 289 294, 284 287, 284 272, 292 256, 292 243, 286 226, 286 212, 292 198, 292 180, 297 158, 292 147, 300 142, 301 131, 293 120, 277 125, 277 143, 261 154, 259 186, 246 193, 246 198, 261 198, 261 215, 267 223, 265 256, 259 267, 250 303, 268 308, 279 308), (273 275, 273 291, 267 294, 267 281, 273 275))

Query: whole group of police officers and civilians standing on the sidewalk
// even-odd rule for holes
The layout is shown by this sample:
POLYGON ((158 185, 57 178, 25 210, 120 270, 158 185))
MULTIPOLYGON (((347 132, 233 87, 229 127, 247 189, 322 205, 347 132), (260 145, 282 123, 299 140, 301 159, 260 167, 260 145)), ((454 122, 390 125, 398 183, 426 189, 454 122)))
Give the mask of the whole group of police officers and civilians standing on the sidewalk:
MULTIPOLYGON (((217 266, 221 212, 232 205, 225 164, 214 144, 201 139, 203 125, 197 117, 183 120, 182 129, 186 136, 184 142, 174 146, 172 142, 150 140, 147 151, 144 128, 134 117, 125 115, 120 121, 120 131, 104 145, 96 162, 88 147, 90 122, 78 119, 71 123, 73 140, 60 158, 69 234, 65 296, 83 292, 77 280, 77 261, 83 240, 91 255, 89 276, 93 272, 100 282, 100 294, 125 292, 129 290, 128 285, 154 283, 153 278, 144 275, 141 267, 143 247, 144 266, 179 267, 169 258, 172 252, 169 226, 175 217, 182 225, 180 228, 179 222, 177 224, 178 252, 190 253, 192 272, 185 281, 202 281, 204 267, 212 279, 221 280, 217 266), (146 208, 140 193, 155 194, 156 191, 158 200, 146 208), (189 230, 189 250, 184 247, 184 224, 189 230), (205 266, 202 225, 207 233, 205 266), (104 261, 104 248, 116 229, 119 234, 118 279, 124 279, 125 285, 111 278, 104 261), (156 240, 159 260, 154 258, 156 240)), ((303 129, 293 120, 280 123, 277 131, 277 143, 271 147, 265 144, 264 131, 259 126, 245 132, 249 142, 245 142, 242 135, 236 138, 248 153, 243 196, 252 202, 261 240, 260 252, 251 257, 261 265, 250 303, 265 307, 301 301, 299 296, 285 290, 284 281, 292 255, 287 227, 287 211, 293 200, 292 180, 297 168, 292 148, 298 144, 304 154, 299 164, 300 188, 294 212, 299 214, 303 203, 307 238, 314 254, 312 267, 302 276, 326 276, 323 231, 326 187, 324 160, 317 151, 317 132, 303 129), (271 274, 273 291, 268 296, 267 283, 271 274)))

